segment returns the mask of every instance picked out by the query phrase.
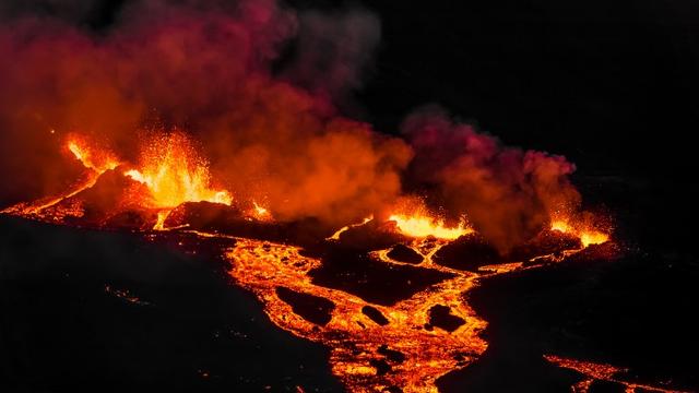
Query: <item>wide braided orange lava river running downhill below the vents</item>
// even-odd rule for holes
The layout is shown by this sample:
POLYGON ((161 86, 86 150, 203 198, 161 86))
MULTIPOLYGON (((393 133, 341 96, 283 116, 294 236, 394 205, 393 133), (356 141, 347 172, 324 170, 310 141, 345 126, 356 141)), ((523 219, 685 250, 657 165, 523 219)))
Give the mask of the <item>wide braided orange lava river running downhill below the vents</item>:
POLYGON ((461 272, 389 307, 312 284, 307 273, 321 262, 300 255, 296 247, 237 239, 226 257, 232 262, 230 275, 262 299, 272 322, 332 349, 332 371, 351 391, 381 391, 389 386, 400 386, 406 392, 437 391, 437 378, 465 367, 487 347, 478 337, 486 322, 461 299, 461 295, 473 287, 475 275, 471 273, 461 272), (330 322, 319 329, 295 314, 291 306, 280 299, 277 287, 331 300, 335 308, 330 322), (452 312, 465 323, 452 333, 424 329, 429 323, 429 309, 435 305, 451 306, 452 312), (389 323, 377 324, 362 312, 365 306, 378 309, 389 323), (375 366, 384 361, 384 356, 377 352, 382 345, 405 357, 404 361, 391 365, 390 373, 383 374, 377 372, 375 366))

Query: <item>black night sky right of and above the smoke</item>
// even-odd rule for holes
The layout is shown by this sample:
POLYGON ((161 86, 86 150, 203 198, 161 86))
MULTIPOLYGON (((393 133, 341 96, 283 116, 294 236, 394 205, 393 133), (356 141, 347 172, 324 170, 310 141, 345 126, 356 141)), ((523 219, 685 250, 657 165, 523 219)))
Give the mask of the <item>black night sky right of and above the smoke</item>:
POLYGON ((588 174, 686 172, 697 126, 690 10, 663 1, 411 3, 371 4, 384 46, 363 102, 381 126, 437 102, 588 174))

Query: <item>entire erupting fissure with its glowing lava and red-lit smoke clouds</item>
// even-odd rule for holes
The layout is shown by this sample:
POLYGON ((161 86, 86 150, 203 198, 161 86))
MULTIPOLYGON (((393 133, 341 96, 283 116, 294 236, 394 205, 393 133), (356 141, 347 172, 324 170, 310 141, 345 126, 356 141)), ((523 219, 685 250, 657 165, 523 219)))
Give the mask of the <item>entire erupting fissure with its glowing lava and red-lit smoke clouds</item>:
MULTIPOLYGON (((49 195, 0 213, 216 255, 275 325, 330 347, 350 391, 437 391, 488 347, 470 290, 619 254, 608 218, 582 212, 565 157, 431 106, 392 134, 341 115, 378 45, 370 12, 123 3, 99 34, 45 15, 0 27, 0 138, 23 152, 0 166, 17 168, 9 189, 32 186, 8 198, 49 195), (144 132, 153 111, 186 131, 144 132)), ((546 359, 580 373, 579 391, 600 379, 663 391, 546 359)))

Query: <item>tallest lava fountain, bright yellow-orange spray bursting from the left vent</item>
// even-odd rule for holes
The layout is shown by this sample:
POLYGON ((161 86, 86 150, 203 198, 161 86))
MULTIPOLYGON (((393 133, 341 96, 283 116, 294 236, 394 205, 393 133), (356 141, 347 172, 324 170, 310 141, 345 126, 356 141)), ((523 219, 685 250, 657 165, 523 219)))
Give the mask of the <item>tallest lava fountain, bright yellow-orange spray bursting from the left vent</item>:
POLYGON ((229 205, 233 198, 225 190, 211 188, 206 162, 180 132, 157 138, 147 144, 140 169, 125 172, 151 191, 151 207, 173 209, 183 202, 213 202, 229 205))

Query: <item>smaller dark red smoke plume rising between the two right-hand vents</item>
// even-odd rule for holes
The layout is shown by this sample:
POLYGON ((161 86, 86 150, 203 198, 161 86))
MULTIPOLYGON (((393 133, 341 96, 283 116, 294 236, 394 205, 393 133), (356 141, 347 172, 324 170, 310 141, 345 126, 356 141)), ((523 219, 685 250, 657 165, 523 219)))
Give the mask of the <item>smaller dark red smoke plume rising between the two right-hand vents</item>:
POLYGON ((499 249, 526 240, 557 212, 574 210, 579 194, 565 157, 506 147, 436 107, 408 116, 403 132, 415 158, 410 177, 436 189, 451 212, 465 212, 499 249))

